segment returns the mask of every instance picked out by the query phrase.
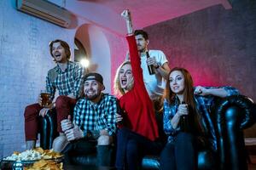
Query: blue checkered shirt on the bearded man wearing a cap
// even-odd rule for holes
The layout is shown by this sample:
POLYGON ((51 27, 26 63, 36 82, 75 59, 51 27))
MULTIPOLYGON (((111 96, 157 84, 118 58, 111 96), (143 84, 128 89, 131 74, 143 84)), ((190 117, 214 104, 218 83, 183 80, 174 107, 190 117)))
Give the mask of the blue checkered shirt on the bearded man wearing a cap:
POLYGON ((110 94, 102 94, 102 99, 94 104, 88 99, 79 99, 74 107, 73 122, 85 133, 92 130, 116 131, 115 114, 118 113, 117 99, 110 94))

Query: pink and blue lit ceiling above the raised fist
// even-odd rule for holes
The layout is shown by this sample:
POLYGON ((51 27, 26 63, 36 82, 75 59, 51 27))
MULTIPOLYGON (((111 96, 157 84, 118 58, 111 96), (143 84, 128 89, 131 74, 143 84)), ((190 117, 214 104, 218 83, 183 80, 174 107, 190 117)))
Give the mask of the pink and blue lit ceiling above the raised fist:
POLYGON ((52 0, 73 14, 118 34, 125 33, 120 13, 131 10, 135 29, 172 20, 184 14, 222 4, 231 8, 228 0, 52 0), (61 3, 61 4, 60 4, 61 3))

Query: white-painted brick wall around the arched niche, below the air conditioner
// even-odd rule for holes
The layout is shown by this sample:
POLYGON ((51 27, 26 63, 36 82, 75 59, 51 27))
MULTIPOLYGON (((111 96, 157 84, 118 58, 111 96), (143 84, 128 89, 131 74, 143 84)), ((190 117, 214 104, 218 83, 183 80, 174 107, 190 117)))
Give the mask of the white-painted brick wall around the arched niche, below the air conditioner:
MULTIPOLYGON (((47 71, 55 66, 49 42, 62 39, 73 49, 76 30, 84 23, 88 21, 79 18, 78 27, 64 29, 17 11, 15 0, 0 0, 0 159, 25 150, 24 109, 37 102, 47 71)), ((125 56, 126 42, 100 27, 85 26, 79 40, 86 44, 95 71, 104 77, 104 92, 110 94, 111 56, 125 56)))

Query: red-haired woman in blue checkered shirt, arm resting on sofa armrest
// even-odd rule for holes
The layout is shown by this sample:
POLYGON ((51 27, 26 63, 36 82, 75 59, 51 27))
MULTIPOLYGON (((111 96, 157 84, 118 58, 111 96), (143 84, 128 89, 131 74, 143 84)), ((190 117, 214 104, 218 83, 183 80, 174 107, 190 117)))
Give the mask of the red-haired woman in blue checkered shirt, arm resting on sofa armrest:
POLYGON ((238 94, 236 88, 194 88, 189 71, 172 69, 164 95, 164 131, 168 142, 160 156, 160 169, 196 169, 199 145, 216 150, 210 107, 216 97, 233 94, 238 94), (181 126, 184 120, 187 129, 181 126))

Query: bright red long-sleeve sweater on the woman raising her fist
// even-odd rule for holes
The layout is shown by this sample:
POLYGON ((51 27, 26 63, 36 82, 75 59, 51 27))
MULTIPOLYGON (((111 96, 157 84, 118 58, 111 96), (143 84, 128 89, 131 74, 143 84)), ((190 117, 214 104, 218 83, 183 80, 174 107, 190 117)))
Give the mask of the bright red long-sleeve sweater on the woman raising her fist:
POLYGON ((159 137, 158 127, 154 116, 154 106, 143 82, 143 70, 137 43, 134 36, 127 36, 126 39, 129 44, 134 86, 119 99, 120 107, 125 112, 125 126, 135 133, 155 140, 159 137))

